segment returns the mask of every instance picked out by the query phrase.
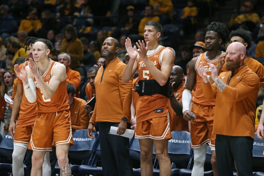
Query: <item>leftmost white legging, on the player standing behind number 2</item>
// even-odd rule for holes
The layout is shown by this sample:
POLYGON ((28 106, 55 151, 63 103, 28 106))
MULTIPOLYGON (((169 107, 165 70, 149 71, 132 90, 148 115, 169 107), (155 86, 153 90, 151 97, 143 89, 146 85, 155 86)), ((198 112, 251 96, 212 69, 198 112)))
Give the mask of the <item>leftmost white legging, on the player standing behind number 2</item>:
POLYGON ((14 145, 12 153, 12 172, 13 176, 24 176, 23 160, 28 149, 28 145, 19 144, 14 145))

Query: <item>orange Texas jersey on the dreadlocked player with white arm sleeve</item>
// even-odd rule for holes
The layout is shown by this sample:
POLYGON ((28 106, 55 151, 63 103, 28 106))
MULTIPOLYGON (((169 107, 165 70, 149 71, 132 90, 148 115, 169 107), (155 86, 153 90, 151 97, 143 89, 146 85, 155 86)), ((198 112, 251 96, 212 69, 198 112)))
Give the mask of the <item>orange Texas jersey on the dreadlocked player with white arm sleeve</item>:
POLYGON ((209 60, 207 58, 207 52, 200 54, 196 64, 195 64, 195 71, 196 71, 196 89, 194 92, 194 98, 193 98, 193 102, 203 105, 203 106, 214 106, 215 105, 215 99, 214 100, 208 100, 204 97, 204 92, 203 92, 203 88, 202 88, 202 83, 203 83, 203 79, 202 77, 200 77, 200 75, 198 74, 197 71, 197 67, 203 63, 204 64, 204 69, 206 70, 207 73, 207 77, 210 77, 211 75, 211 69, 209 67, 209 63, 214 64, 215 66, 217 66, 218 64, 218 59, 216 58, 215 60, 209 60))

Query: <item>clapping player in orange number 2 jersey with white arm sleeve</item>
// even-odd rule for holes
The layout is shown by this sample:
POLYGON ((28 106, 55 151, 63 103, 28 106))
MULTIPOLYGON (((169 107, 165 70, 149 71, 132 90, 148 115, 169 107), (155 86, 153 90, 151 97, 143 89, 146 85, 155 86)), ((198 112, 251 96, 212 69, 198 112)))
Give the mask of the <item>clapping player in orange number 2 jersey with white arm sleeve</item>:
POLYGON ((53 45, 49 40, 38 39, 33 45, 33 60, 15 72, 22 80, 26 98, 37 102, 37 117, 30 140, 33 149, 31 175, 42 175, 46 151, 52 150, 53 141, 60 167, 60 175, 71 175, 68 150, 73 145, 70 124, 70 107, 66 89, 66 68, 48 58, 53 45), (33 79, 32 79, 33 78, 33 79))

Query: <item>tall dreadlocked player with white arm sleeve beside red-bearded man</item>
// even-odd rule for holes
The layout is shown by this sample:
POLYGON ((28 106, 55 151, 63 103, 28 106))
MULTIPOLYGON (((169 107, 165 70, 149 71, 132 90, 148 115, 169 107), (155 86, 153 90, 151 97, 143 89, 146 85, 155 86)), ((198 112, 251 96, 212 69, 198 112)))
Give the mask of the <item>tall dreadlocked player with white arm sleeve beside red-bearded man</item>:
MULTIPOLYGON (((194 57, 189 65, 189 76, 186 82, 185 89, 182 94, 182 112, 183 118, 191 121, 191 147, 194 150, 194 166, 192 176, 204 175, 204 162, 207 150, 207 144, 211 147, 211 164, 214 176, 218 175, 216 168, 215 155, 215 134, 213 130, 213 117, 215 99, 208 100, 203 95, 202 77, 197 72, 198 65, 203 65, 207 71, 207 76, 211 75, 211 70, 208 63, 217 66, 217 70, 221 72, 224 64, 222 55, 225 53, 220 50, 221 44, 226 44, 229 39, 229 31, 226 25, 220 22, 212 22, 207 26, 205 35, 205 53, 194 57), (192 99, 192 89, 197 84, 192 99), (189 109, 190 102, 194 102, 191 110, 189 109)), ((211 80, 211 79, 210 79, 211 80)))

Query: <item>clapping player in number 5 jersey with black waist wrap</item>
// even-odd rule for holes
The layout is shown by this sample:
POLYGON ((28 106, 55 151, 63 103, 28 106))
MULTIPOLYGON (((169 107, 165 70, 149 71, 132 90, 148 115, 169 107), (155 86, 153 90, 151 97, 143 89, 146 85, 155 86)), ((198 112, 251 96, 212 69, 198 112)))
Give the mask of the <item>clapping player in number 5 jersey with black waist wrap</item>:
POLYGON ((141 175, 153 175, 152 148, 160 165, 160 175, 171 175, 168 155, 170 134, 170 101, 168 86, 174 55, 172 50, 158 44, 162 28, 160 23, 149 21, 144 28, 144 41, 138 40, 132 47, 126 39, 126 50, 130 60, 122 74, 122 81, 128 82, 138 69, 140 95, 136 105, 136 138, 140 144, 141 175), (134 50, 133 50, 134 48, 134 50), (153 90, 153 91, 150 91, 153 90))

